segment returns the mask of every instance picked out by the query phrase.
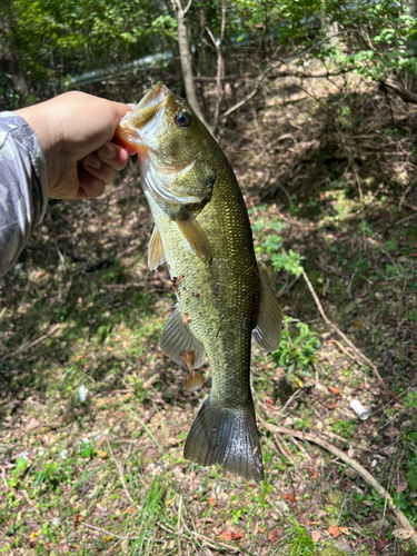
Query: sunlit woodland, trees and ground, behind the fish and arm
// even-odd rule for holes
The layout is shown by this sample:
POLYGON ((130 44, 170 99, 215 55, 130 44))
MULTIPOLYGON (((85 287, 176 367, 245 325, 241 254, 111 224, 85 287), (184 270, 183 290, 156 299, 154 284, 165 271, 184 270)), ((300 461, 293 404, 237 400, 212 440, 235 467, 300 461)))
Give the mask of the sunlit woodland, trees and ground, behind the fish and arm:
POLYGON ((189 394, 158 348, 136 162, 50 201, 0 285, 0 553, 417 554, 416 32, 411 1, 1 2, 2 110, 187 96, 286 318, 252 348, 266 480, 190 464, 210 374, 189 394))

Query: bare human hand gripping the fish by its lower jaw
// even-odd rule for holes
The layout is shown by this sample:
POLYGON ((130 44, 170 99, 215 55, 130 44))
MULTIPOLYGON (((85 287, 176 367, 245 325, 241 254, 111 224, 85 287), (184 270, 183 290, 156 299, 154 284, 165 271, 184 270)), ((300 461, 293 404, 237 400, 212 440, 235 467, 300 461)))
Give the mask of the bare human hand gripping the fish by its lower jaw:
POLYGON ((37 133, 47 161, 48 195, 83 199, 102 195, 135 149, 111 142, 130 107, 83 92, 66 92, 16 113, 37 133))

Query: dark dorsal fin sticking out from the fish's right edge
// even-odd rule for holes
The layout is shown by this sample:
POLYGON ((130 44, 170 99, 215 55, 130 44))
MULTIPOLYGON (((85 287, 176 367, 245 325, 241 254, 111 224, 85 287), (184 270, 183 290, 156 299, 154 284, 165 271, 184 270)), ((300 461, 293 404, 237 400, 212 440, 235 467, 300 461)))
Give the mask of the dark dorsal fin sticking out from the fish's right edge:
POLYGON ((252 330, 258 346, 267 351, 278 349, 281 339, 282 311, 268 284, 260 277, 260 306, 258 322, 252 330))

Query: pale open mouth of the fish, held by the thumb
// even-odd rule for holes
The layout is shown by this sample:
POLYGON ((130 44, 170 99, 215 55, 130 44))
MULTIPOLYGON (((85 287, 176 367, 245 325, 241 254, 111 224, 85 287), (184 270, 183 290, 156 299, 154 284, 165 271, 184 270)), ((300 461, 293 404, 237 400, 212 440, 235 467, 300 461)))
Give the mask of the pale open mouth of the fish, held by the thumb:
POLYGON ((169 89, 161 81, 156 83, 145 95, 136 108, 120 120, 115 136, 122 141, 136 147, 143 147, 145 128, 156 118, 162 117, 165 105, 169 96, 169 89))

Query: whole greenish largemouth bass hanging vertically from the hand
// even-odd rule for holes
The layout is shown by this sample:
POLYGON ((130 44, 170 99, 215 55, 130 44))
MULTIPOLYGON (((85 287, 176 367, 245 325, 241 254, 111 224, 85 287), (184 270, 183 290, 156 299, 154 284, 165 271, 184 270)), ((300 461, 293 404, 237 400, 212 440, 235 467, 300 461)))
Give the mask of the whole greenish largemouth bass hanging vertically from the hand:
POLYGON ((155 226, 148 266, 168 266, 177 304, 160 348, 211 389, 188 434, 183 456, 219 464, 247 480, 265 477, 250 385, 251 337, 278 348, 282 312, 260 276, 252 232, 234 170, 190 105, 156 83, 120 121, 116 137, 138 152, 155 226))

